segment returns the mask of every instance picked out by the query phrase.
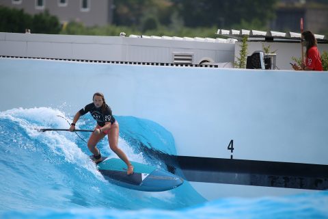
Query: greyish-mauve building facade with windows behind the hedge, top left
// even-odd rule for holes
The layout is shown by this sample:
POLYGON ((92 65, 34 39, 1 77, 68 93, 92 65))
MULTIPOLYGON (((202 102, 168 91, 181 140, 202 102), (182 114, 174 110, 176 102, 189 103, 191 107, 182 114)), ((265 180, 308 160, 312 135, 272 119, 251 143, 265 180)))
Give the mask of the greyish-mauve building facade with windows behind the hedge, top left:
POLYGON ((113 0, 1 0, 0 5, 28 14, 49 10, 62 24, 78 21, 91 27, 110 24, 113 19, 113 0))

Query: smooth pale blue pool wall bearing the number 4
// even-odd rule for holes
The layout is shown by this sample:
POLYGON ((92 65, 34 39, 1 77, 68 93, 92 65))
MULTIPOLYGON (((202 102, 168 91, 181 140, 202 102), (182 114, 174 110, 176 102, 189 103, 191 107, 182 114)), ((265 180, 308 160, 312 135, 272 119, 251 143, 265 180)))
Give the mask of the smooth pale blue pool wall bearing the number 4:
POLYGON ((178 155, 230 158, 234 140, 235 159, 328 164, 328 73, 0 59, 1 111, 73 115, 96 91, 165 127, 178 155))

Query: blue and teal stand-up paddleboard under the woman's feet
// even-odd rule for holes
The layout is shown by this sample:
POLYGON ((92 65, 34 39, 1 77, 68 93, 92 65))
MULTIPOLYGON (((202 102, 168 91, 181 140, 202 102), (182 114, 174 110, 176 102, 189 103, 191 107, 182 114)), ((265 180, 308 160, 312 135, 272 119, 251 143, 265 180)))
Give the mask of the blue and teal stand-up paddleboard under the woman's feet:
POLYGON ((134 168, 132 175, 126 174, 126 164, 122 159, 103 157, 97 166, 105 179, 132 190, 162 192, 183 183, 183 179, 165 170, 137 162, 131 164, 134 168))

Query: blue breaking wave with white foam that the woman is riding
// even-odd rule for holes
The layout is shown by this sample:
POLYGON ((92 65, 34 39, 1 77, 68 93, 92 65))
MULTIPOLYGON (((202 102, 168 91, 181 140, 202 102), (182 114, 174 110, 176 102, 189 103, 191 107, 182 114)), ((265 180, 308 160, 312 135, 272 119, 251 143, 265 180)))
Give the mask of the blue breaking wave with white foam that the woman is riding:
MULTIPOLYGON (((50 107, 0 112, 1 211, 36 209, 176 209, 204 202, 189 183, 167 192, 139 192, 106 181, 90 161, 86 143, 90 133, 38 131, 68 128, 64 112, 50 107), (186 195, 187 194, 187 195, 186 195)), ((165 168, 161 160, 143 154, 143 148, 175 153, 172 135, 161 125, 131 116, 116 116, 119 146, 129 159, 165 168)), ((92 116, 83 116, 79 129, 93 129, 92 116)), ((102 155, 116 157, 104 138, 102 155)))

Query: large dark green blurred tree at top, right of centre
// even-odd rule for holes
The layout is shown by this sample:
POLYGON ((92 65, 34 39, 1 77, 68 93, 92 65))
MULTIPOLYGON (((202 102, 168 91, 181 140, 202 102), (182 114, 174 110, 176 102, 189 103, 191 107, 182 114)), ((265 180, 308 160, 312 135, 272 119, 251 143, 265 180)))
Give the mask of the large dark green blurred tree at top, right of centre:
POLYGON ((265 27, 275 16, 277 0, 174 0, 187 27, 219 26, 230 29, 241 21, 265 27))

